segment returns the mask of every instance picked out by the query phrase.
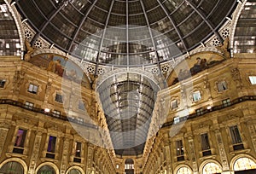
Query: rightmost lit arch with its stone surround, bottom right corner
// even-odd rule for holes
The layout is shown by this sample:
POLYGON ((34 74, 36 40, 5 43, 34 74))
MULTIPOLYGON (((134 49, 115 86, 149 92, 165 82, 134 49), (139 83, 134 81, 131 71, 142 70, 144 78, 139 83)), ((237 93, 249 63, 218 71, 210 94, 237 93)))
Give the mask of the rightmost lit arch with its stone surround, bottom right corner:
POLYGON ((256 169, 256 159, 254 159, 252 156, 250 156, 248 154, 238 154, 233 159, 231 159, 230 169, 232 171, 241 171, 241 170, 236 170, 236 163, 237 162, 240 162, 241 163, 240 165, 245 165, 245 166, 241 166, 241 167, 244 167, 243 170, 256 169), (242 159, 242 163, 239 161, 241 159, 242 159), (249 163, 249 164, 246 164, 245 162, 249 163))

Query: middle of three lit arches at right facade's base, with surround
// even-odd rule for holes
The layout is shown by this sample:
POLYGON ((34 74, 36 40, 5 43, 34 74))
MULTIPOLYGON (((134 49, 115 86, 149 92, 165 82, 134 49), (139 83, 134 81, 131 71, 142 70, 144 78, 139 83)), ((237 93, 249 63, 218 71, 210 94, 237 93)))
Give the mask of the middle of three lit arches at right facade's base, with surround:
POLYGON ((222 165, 220 165, 218 161, 207 159, 201 163, 199 167, 199 171, 202 174, 210 174, 210 173, 220 173, 223 171, 223 169, 222 169, 222 165))

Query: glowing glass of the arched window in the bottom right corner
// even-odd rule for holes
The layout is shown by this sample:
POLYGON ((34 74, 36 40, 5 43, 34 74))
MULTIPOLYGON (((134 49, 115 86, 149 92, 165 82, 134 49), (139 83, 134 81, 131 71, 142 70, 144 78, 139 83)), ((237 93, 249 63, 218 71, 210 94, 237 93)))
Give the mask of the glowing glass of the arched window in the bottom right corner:
POLYGON ((234 164, 234 171, 244 171, 249 169, 256 169, 256 164, 252 159, 239 158, 234 164))

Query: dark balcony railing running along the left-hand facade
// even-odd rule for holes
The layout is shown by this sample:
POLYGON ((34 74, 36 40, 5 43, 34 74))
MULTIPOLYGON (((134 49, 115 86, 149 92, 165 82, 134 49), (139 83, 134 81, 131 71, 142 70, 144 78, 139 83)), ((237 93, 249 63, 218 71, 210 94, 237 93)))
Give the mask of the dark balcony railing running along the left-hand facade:
POLYGON ((11 99, 0 99, 0 104, 6 104, 6 105, 15 106, 15 107, 20 107, 20 108, 32 111, 34 113, 42 113, 46 116, 49 116, 49 117, 52 117, 52 118, 55 118, 55 119, 61 119, 61 120, 64 120, 64 121, 69 121, 69 122, 72 122, 72 123, 76 123, 78 125, 84 125, 85 127, 89 127, 89 128, 92 128, 92 129, 97 129, 96 125, 81 122, 79 119, 74 119, 74 118, 71 118, 71 117, 67 117, 66 115, 58 115, 58 117, 56 117, 56 113, 52 113, 52 112, 48 113, 48 112, 45 112, 44 109, 42 109, 42 108, 29 107, 29 106, 27 106, 26 104, 24 104, 22 102, 16 102, 16 101, 11 100, 11 99))

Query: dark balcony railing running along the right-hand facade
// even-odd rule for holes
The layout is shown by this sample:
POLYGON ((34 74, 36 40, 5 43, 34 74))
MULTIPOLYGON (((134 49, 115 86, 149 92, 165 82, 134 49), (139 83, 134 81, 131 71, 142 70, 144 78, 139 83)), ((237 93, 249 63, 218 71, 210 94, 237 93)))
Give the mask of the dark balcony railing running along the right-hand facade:
MULTIPOLYGON (((234 106, 238 103, 241 103, 241 102, 247 102, 247 101, 256 101, 256 96, 241 96, 233 101, 231 101, 229 103, 229 105, 218 105, 218 106, 215 106, 215 107, 212 107, 211 109, 203 109, 201 110, 200 113, 191 113, 189 115, 186 115, 186 116, 183 116, 181 118, 179 118, 179 123, 183 122, 183 121, 186 121, 187 119, 195 119, 195 118, 198 118, 198 117, 201 117, 202 115, 205 115, 207 113, 212 113, 214 111, 218 111, 218 110, 221 110, 223 108, 227 108, 227 107, 231 107, 231 106, 234 106)), ((174 121, 170 121, 170 122, 166 122, 165 124, 163 124, 161 127, 168 127, 168 126, 172 126, 176 123, 174 123, 174 121)))

